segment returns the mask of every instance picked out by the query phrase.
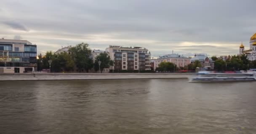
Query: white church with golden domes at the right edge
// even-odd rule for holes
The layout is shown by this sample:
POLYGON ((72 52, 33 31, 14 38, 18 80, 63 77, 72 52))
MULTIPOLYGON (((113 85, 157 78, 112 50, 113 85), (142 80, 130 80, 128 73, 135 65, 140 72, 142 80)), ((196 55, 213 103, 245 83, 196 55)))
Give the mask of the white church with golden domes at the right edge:
POLYGON ((239 47, 239 54, 246 54, 251 61, 256 60, 256 33, 251 36, 250 49, 245 50, 245 46, 242 43, 239 47))

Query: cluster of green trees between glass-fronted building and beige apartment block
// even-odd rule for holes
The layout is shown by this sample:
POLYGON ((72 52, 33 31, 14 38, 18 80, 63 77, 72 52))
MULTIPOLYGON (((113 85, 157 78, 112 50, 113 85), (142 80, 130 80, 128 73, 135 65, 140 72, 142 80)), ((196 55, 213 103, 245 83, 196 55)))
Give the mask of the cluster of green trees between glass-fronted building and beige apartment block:
POLYGON ((113 61, 107 53, 100 53, 93 63, 89 44, 83 42, 69 48, 68 53, 56 54, 48 51, 45 55, 38 54, 37 71, 49 69, 49 60, 52 61, 51 72, 89 72, 91 70, 102 72, 104 68, 113 65, 113 61), (99 61, 101 62, 100 66, 99 61))

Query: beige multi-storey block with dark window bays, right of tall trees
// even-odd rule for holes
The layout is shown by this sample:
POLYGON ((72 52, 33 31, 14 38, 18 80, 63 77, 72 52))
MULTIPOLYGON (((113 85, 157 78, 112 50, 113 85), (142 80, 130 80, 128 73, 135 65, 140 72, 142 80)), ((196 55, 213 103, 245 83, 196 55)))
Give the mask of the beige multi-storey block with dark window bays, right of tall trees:
POLYGON ((106 49, 114 60, 114 70, 151 70, 151 54, 142 47, 109 46, 106 49))

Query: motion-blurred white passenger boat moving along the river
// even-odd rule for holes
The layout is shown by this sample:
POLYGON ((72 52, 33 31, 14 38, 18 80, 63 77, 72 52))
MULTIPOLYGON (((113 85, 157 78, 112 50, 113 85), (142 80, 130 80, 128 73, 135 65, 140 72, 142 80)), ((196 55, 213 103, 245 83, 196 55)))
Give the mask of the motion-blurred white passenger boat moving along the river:
POLYGON ((200 71, 197 76, 191 77, 189 82, 222 82, 222 81, 255 81, 256 76, 248 73, 213 73, 200 71))

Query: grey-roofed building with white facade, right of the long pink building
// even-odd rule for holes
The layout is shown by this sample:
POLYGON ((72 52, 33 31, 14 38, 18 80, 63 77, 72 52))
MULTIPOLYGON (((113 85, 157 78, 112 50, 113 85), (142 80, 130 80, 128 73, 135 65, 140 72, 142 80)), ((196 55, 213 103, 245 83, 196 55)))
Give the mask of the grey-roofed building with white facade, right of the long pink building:
POLYGON ((201 64, 201 69, 202 68, 205 68, 208 70, 214 69, 214 61, 211 58, 205 56, 205 54, 196 54, 195 57, 191 58, 191 63, 194 63, 197 60, 201 64))

